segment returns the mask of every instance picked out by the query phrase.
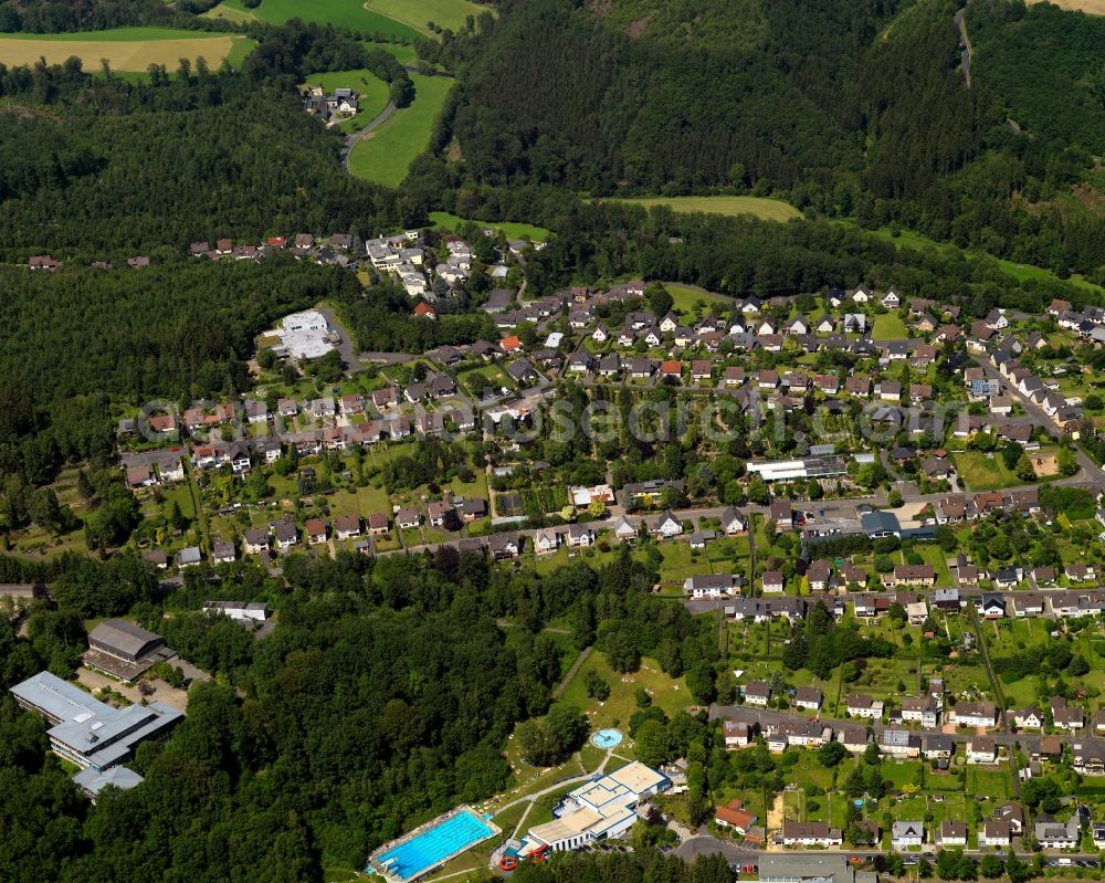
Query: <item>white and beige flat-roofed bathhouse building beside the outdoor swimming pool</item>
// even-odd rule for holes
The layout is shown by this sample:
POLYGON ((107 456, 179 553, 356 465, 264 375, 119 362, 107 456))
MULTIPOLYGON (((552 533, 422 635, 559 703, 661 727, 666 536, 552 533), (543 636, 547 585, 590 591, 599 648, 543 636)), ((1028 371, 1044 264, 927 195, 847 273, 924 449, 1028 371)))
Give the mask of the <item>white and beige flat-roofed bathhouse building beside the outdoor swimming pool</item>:
POLYGON ((636 821, 636 806, 670 787, 666 776, 634 760, 565 797, 552 821, 529 830, 518 854, 562 852, 620 837, 636 821))

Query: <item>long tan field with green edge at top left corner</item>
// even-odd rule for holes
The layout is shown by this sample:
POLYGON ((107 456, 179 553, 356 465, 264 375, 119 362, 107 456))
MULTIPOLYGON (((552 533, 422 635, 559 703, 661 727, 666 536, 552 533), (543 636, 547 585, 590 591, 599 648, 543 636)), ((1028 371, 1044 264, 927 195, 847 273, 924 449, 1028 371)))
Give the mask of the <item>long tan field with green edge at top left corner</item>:
POLYGON ((200 34, 171 28, 115 28, 107 31, 64 34, 4 34, 0 36, 0 62, 9 66, 33 64, 44 57, 60 64, 71 55, 84 62, 90 73, 107 59, 113 71, 143 72, 151 64, 176 70, 180 59, 193 63, 199 56, 214 70, 227 59, 233 64, 245 57, 254 41, 228 34, 200 34))

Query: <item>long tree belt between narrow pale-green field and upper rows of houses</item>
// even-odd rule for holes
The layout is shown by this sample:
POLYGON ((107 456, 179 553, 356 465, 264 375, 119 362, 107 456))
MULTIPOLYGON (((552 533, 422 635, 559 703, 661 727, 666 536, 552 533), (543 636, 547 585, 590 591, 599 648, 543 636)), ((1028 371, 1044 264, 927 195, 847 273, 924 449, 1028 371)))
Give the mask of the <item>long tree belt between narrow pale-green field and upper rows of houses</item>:
POLYGON ((1018 282, 993 261, 969 261, 955 249, 899 246, 839 222, 778 224, 611 202, 549 204, 544 220, 557 236, 526 267, 530 288, 541 292, 573 278, 593 283, 625 274, 734 295, 800 294, 865 281, 958 301, 978 316, 998 305, 1042 311, 1053 297, 1083 304, 1093 294, 1060 281, 1018 282))

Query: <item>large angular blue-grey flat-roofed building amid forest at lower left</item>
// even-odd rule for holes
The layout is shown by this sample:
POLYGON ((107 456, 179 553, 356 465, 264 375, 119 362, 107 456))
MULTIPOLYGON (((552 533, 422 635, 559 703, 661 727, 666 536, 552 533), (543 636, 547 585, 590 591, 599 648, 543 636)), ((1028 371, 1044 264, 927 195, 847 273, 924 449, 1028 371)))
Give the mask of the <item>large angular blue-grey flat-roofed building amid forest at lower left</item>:
POLYGON ((183 717, 160 702, 114 708, 50 672, 28 677, 11 692, 17 703, 51 724, 51 749, 81 769, 118 766, 139 743, 168 735, 183 717))

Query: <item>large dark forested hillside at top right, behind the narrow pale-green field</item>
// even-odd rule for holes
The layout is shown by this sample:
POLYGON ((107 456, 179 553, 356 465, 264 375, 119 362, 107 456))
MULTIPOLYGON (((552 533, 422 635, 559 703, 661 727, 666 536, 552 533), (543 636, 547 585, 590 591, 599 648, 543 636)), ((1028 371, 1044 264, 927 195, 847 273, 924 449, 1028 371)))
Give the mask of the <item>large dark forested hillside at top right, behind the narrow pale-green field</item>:
POLYGON ((476 34, 422 48, 463 88, 411 185, 453 193, 459 211, 523 186, 776 193, 811 216, 1105 278, 1099 207, 1020 198, 1070 193, 1101 153, 1093 17, 978 0, 968 87, 946 0, 747 0, 694 17, 640 0, 505 9, 476 34), (530 41, 554 49, 526 52, 530 41), (1034 125, 1041 114, 1053 122, 1034 125))

